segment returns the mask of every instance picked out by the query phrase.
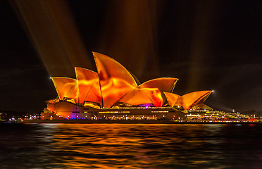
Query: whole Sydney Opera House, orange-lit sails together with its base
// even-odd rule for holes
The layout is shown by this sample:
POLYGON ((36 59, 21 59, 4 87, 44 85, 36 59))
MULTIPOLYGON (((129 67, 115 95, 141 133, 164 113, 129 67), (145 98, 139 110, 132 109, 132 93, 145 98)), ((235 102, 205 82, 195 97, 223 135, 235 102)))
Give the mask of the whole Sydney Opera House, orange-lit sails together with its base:
POLYGON ((140 84, 113 58, 93 52, 97 73, 75 68, 76 78, 52 77, 56 99, 46 101, 42 119, 159 119, 183 120, 204 104, 212 91, 173 93, 177 78, 162 77, 140 84))

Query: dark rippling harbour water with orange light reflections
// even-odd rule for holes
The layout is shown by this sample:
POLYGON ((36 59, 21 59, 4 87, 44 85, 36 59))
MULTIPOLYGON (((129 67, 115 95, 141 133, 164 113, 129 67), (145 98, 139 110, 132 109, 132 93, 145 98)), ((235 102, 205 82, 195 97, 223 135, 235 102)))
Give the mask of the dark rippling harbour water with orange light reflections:
POLYGON ((262 125, 0 124, 0 168, 262 168, 262 125))

